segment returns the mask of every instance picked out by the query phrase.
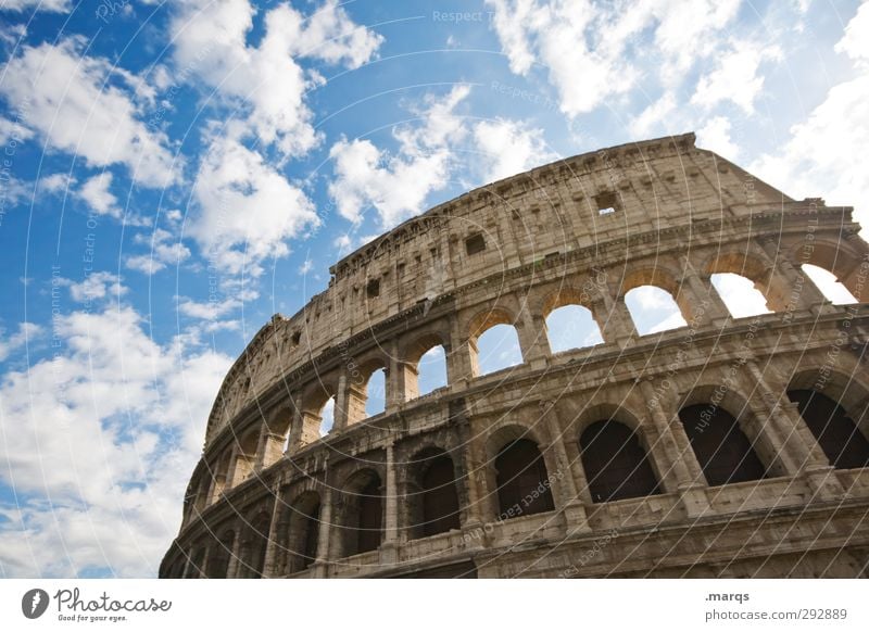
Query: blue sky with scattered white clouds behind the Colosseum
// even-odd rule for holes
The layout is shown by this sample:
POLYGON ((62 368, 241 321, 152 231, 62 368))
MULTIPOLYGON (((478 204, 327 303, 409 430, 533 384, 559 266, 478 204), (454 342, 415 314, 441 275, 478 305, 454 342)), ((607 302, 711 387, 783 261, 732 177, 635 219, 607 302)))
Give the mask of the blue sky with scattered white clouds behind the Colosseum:
POLYGON ((864 218, 867 42, 856 1, 0 0, 0 577, 155 574, 232 358, 468 188, 695 130, 864 218))

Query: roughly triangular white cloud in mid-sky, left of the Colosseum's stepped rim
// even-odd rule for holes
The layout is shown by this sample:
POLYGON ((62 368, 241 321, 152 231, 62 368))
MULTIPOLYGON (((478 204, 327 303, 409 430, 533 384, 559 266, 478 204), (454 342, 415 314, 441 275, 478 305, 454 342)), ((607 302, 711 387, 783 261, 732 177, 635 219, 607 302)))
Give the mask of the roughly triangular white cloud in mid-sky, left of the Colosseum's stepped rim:
POLYGON ((289 253, 286 240, 316 227, 314 204, 263 157, 230 138, 214 138, 193 185, 190 233, 222 269, 251 276, 289 253))

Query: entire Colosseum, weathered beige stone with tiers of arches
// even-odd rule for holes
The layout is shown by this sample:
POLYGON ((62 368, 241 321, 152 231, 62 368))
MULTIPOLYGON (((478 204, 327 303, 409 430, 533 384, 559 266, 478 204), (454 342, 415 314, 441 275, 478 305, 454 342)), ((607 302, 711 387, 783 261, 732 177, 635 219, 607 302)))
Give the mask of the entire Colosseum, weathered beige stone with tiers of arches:
POLYGON ((852 212, 687 134, 405 222, 231 367, 160 577, 869 576, 869 244, 852 212), (828 300, 806 265, 857 301, 828 300), (766 313, 732 316, 722 274, 766 313), (625 298, 644 286, 683 325, 641 334, 625 298), (546 319, 568 305, 600 340, 555 352, 546 319), (521 358, 486 374, 495 326, 521 358), (446 383, 423 394, 436 347, 446 383))

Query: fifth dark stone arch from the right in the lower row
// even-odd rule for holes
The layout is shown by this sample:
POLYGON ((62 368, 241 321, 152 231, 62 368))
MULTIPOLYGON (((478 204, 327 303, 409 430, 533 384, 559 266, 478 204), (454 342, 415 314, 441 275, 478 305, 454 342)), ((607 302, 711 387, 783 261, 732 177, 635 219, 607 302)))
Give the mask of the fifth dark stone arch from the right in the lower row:
POLYGON ((428 538, 461 529, 457 484, 461 473, 445 450, 427 446, 406 465, 407 529, 411 539, 428 538))

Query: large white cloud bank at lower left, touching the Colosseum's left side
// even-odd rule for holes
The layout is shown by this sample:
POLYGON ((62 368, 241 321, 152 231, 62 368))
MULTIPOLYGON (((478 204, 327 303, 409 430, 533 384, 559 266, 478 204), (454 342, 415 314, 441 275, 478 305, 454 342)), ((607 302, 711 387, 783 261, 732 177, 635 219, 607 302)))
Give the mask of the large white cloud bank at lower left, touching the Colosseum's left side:
POLYGON ((18 505, 0 506, 0 574, 156 573, 231 358, 141 325, 128 307, 63 316, 63 353, 3 375, 0 478, 18 505))

